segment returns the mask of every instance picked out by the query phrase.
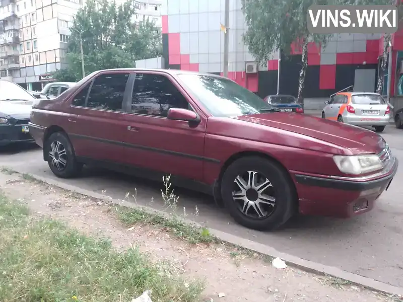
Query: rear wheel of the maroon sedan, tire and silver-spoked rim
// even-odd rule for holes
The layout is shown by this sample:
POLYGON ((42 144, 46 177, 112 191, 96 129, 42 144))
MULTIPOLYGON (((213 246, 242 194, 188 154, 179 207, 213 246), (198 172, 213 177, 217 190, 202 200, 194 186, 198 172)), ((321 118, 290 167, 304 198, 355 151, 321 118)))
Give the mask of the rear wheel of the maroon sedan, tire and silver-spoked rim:
POLYGON ((63 132, 51 134, 44 143, 43 152, 50 170, 57 177, 75 177, 83 168, 83 165, 76 160, 70 139, 63 132))

